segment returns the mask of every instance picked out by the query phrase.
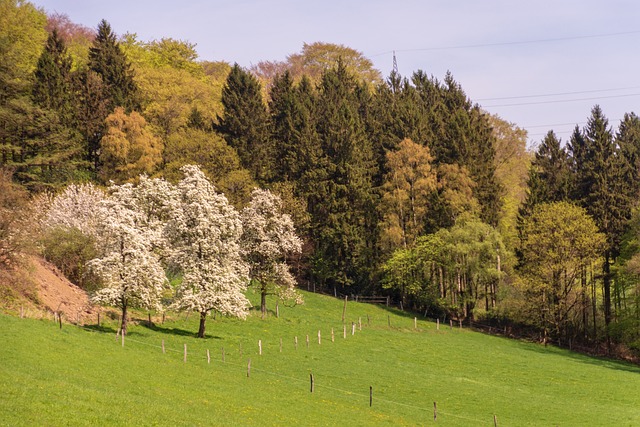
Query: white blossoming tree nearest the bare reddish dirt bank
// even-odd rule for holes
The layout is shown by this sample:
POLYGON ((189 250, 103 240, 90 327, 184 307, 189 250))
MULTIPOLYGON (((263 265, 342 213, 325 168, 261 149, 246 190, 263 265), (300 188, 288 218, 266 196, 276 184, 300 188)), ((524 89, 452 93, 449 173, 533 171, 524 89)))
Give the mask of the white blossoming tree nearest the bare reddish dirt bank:
POLYGON ((131 184, 114 185, 110 196, 98 204, 100 255, 88 263, 103 285, 91 299, 122 310, 123 334, 127 332, 128 308, 161 310, 167 287, 164 269, 153 250, 154 235, 148 232, 145 212, 136 203, 136 191, 131 184))

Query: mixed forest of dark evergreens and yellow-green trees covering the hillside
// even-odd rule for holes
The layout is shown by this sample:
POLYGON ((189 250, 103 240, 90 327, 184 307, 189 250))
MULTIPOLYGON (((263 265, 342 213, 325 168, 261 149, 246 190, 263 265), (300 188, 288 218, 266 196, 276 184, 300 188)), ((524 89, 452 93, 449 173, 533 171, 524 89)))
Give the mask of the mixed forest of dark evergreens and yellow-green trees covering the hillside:
MULTIPOLYGON (((303 240, 288 259, 300 286, 640 350, 635 114, 613 129, 594 106, 569 141, 549 131, 529 152, 526 132, 450 73, 383 78, 325 43, 244 69, 106 21, 0 9, 3 262, 28 194, 177 183, 198 164, 238 209, 254 187, 283 200, 303 240)), ((48 237, 41 247, 60 244, 48 237)))

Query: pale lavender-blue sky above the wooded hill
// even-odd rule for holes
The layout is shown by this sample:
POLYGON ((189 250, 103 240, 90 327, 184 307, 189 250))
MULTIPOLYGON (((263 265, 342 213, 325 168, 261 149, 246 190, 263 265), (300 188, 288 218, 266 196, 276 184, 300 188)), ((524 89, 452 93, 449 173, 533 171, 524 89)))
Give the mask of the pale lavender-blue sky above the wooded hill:
POLYGON ((594 105, 614 131, 640 115, 636 0, 33 0, 47 12, 117 35, 196 44, 200 59, 249 67, 285 60, 303 43, 343 44, 383 76, 447 71, 491 114, 567 142, 594 105))

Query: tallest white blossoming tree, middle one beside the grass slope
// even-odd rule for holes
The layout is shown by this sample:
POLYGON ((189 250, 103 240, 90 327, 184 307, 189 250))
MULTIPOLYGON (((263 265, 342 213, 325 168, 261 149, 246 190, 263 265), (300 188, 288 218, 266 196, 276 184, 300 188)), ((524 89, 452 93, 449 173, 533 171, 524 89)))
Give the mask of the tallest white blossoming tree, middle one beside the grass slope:
POLYGON ((211 310, 246 317, 248 267, 240 253, 240 214, 197 166, 181 170, 185 176, 166 229, 183 273, 172 308, 199 313, 198 337, 203 338, 211 310))

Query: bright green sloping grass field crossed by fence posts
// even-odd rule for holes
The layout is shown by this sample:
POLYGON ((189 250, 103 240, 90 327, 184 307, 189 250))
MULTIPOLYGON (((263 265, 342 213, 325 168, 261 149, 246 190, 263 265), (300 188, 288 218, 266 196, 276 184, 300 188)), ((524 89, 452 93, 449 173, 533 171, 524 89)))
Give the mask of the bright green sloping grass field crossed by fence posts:
POLYGON ((206 339, 193 314, 140 321, 124 347, 115 321, 0 315, 0 425, 640 425, 639 367, 352 302, 343 338, 343 302, 305 299, 210 318, 206 339))

